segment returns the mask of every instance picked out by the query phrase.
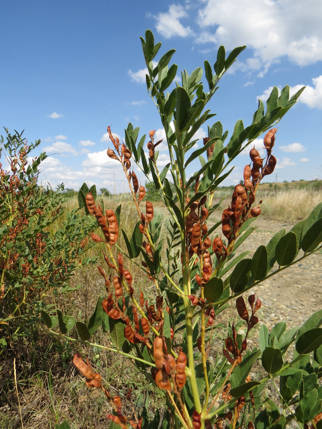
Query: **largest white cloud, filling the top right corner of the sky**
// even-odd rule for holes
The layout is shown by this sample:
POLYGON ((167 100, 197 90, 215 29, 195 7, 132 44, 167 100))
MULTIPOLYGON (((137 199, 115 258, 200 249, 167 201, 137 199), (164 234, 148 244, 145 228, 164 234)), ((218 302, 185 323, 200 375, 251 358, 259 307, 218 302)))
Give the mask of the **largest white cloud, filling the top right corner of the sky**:
POLYGON ((320 0, 205 0, 204 5, 197 42, 213 41, 228 50, 247 45, 263 68, 261 76, 283 56, 300 66, 322 60, 320 0))

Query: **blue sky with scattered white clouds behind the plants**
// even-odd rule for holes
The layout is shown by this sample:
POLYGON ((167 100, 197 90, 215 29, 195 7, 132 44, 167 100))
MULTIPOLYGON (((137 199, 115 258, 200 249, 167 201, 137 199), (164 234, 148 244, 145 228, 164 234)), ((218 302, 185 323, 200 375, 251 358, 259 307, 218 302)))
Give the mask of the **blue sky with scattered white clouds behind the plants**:
MULTIPOLYGON (((219 45, 247 45, 209 105, 212 122, 230 135, 238 119, 251 123, 258 97, 265 100, 273 85, 293 92, 306 85, 279 123, 277 168, 265 179, 322 178, 320 0, 2 0, 0 16, 0 125, 42 140, 40 151, 51 154, 41 165, 43 183, 77 190, 86 181, 122 192, 120 165, 106 155, 106 127, 123 138, 131 121, 140 135, 153 129, 162 137, 139 39, 148 28, 162 42, 160 55, 175 48, 173 62, 189 74, 206 59, 213 64, 219 45)), ((240 154, 224 184, 238 183, 246 163, 240 154)))

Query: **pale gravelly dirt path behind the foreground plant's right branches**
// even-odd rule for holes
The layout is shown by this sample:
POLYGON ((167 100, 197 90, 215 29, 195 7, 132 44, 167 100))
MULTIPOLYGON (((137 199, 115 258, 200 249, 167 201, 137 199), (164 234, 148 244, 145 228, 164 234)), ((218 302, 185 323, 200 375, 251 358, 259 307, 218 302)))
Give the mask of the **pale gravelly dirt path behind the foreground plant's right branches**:
MULTIPOLYGON (((283 228, 288 232, 293 226, 260 218, 252 225, 257 225, 256 230, 240 246, 240 251, 252 252, 248 257, 259 245, 267 245, 276 232, 283 228)), ((258 317, 269 328, 279 321, 286 322, 288 329, 300 326, 322 308, 322 251, 263 281, 257 290, 262 302, 258 317)))

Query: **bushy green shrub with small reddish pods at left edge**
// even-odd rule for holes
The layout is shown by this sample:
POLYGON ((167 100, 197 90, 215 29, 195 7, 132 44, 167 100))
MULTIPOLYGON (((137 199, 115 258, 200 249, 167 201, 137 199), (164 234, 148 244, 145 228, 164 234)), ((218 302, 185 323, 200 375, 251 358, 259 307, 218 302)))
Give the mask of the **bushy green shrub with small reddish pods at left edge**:
MULTIPOLYGON (((69 194, 63 185, 56 191, 37 185, 46 154, 30 160, 40 140, 27 145, 22 133, 6 130, 1 142, 1 157, 10 168, 0 169, 0 322, 2 340, 8 342, 30 335, 46 308, 46 296, 68 291, 75 269, 94 262, 85 257, 94 223, 79 210, 66 212, 69 194)), ((54 327, 55 316, 48 314, 46 323, 54 327)))

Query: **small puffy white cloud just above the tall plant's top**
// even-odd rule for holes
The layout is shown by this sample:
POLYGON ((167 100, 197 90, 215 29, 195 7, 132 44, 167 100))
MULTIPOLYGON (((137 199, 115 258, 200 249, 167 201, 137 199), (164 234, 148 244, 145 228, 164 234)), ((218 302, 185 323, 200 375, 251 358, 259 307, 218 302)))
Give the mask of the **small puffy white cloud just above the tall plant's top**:
POLYGON ((186 37, 194 34, 190 27, 184 27, 179 21, 180 18, 188 18, 188 13, 182 5, 171 4, 168 12, 160 12, 154 18, 157 21, 155 28, 166 39, 173 36, 186 37))

